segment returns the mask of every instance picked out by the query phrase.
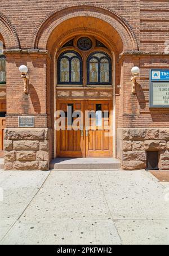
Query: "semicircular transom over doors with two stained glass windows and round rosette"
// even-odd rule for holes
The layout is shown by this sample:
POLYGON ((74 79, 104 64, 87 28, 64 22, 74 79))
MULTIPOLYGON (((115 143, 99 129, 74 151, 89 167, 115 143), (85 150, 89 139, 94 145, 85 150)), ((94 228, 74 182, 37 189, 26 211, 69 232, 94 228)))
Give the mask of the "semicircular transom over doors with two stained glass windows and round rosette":
POLYGON ((77 37, 66 42, 61 50, 57 61, 57 84, 112 86, 112 59, 102 42, 92 37, 77 37))

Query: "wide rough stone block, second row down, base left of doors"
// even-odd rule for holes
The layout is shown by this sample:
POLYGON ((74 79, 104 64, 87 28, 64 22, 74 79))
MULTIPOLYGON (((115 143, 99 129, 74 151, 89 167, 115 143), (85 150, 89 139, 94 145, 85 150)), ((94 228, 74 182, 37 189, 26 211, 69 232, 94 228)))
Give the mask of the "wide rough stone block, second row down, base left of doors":
POLYGON ((18 140, 18 141, 14 141, 14 150, 39 150, 39 141, 38 140, 18 140))

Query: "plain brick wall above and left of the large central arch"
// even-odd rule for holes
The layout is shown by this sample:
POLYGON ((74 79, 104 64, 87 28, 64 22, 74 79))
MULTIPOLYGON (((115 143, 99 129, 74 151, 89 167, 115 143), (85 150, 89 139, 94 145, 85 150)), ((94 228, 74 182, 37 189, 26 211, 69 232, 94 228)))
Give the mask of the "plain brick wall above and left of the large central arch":
MULTIPOLYGON (((14 25, 19 36, 21 48, 32 48, 34 33, 51 14, 66 7, 83 6, 88 5, 88 3, 88 1, 73 0, 1 0, 1 12, 14 25)), ((90 5, 96 5, 117 12, 118 15, 121 15, 123 19, 131 24, 139 39, 139 0, 97 0, 94 2, 91 1, 90 5), (131 15, 133 7, 134 15, 131 15)))

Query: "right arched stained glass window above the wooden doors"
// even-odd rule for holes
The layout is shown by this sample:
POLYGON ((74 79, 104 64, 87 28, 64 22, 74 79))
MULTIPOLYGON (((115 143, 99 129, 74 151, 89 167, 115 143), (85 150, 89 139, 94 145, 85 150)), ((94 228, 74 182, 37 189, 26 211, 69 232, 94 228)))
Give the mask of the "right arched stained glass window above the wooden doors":
POLYGON ((95 52, 88 57, 87 83, 96 85, 112 83, 112 62, 108 54, 95 52))

